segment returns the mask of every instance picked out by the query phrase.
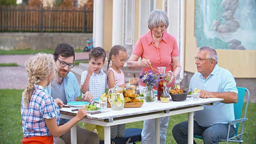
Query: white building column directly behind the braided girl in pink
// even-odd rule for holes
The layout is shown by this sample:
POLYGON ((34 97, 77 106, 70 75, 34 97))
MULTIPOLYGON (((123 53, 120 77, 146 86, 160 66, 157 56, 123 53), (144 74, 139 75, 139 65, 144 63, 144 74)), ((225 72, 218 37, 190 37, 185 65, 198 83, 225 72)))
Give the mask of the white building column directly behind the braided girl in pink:
POLYGON ((112 46, 122 45, 123 0, 113 0, 112 46))

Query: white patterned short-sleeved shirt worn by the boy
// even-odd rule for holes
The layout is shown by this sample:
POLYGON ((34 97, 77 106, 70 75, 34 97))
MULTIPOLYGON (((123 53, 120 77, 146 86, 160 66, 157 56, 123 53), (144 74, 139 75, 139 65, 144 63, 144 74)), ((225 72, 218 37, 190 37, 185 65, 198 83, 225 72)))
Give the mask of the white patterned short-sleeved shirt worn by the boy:
MULTIPOLYGON (((81 87, 84 84, 84 80, 88 74, 88 71, 82 72, 81 75, 81 87)), ((100 74, 92 73, 90 77, 88 91, 92 93, 94 98, 100 98, 100 95, 105 93, 105 89, 107 87, 107 75, 100 70, 100 74)))

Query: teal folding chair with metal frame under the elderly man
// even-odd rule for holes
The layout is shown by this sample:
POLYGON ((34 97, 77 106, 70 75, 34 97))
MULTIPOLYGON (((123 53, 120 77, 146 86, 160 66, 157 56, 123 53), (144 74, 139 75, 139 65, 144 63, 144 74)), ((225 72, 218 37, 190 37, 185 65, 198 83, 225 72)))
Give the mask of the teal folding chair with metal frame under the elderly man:
MULTIPOLYGON (((219 140, 219 142, 225 142, 226 141, 226 144, 228 144, 228 142, 239 142, 240 144, 242 142, 244 142, 242 140, 242 137, 243 137, 243 134, 244 134, 244 132, 243 132, 244 122, 246 120, 248 120, 248 118, 246 118, 246 112, 247 112, 247 108, 248 108, 248 104, 249 104, 250 92, 247 88, 237 87, 237 89, 238 89, 238 102, 236 104, 234 104, 235 120, 232 120, 232 121, 228 122, 228 136, 229 136, 230 126, 233 125, 233 124, 236 124, 236 132, 235 132, 235 134, 232 138, 227 137, 225 140, 219 140), (245 92, 248 93, 248 98, 247 98, 247 102, 246 102, 244 118, 241 118, 242 108, 243 108, 243 104, 244 104, 245 92), (241 128, 240 133, 237 134, 240 122, 242 122, 242 128, 241 128)), ((194 138, 203 139, 202 136, 197 136, 197 135, 194 135, 194 138)))

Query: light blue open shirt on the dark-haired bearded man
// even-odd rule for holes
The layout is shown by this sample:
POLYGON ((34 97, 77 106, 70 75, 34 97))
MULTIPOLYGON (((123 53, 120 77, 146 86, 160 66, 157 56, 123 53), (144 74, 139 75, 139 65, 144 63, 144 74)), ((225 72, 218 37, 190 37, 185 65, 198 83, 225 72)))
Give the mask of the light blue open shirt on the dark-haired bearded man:
MULTIPOLYGON (((81 94, 80 86, 78 84, 76 76, 72 72, 69 72, 68 75, 63 78, 63 82, 67 101, 74 102, 75 98, 77 98, 81 94)), ((52 93, 52 84, 53 83, 51 82, 49 86, 46 86, 46 90, 48 91, 49 95, 51 95, 52 93)))

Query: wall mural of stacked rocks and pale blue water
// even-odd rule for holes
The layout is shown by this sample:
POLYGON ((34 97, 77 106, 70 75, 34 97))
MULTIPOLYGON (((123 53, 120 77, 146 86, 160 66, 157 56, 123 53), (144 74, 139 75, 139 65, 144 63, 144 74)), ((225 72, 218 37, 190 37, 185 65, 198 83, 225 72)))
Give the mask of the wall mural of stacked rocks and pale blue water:
POLYGON ((196 0, 198 48, 256 50, 256 0, 196 0))

